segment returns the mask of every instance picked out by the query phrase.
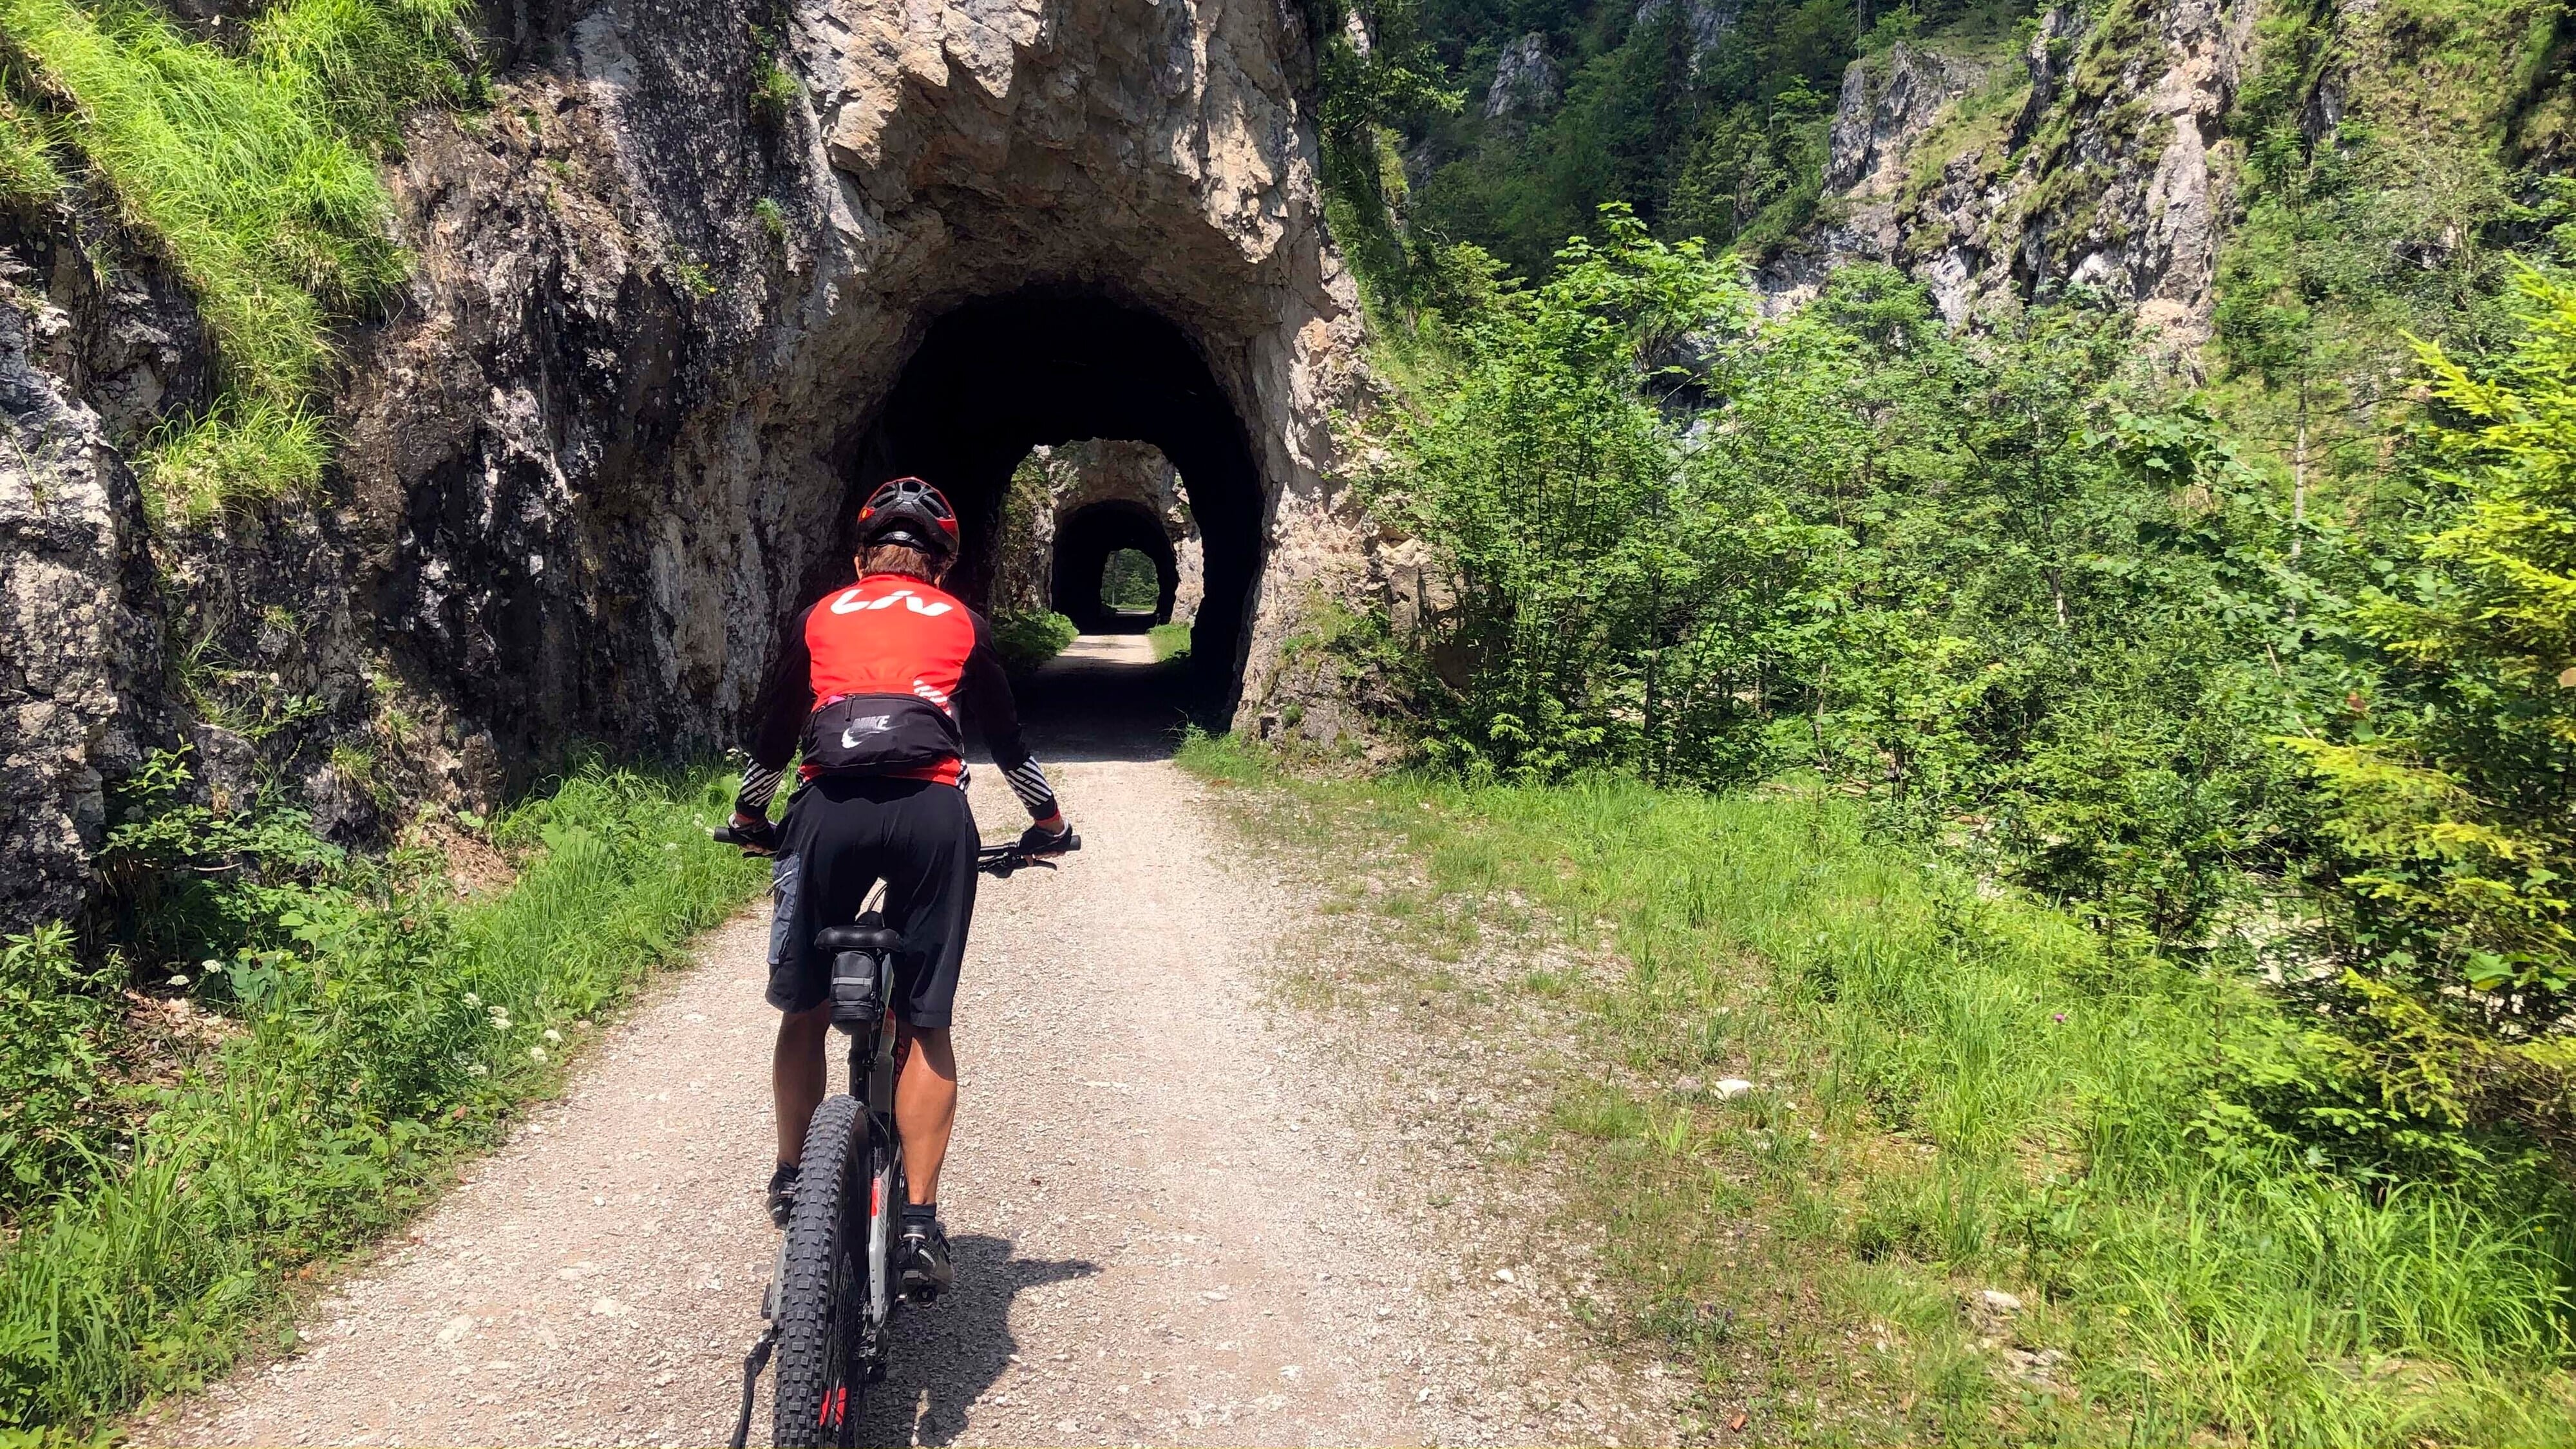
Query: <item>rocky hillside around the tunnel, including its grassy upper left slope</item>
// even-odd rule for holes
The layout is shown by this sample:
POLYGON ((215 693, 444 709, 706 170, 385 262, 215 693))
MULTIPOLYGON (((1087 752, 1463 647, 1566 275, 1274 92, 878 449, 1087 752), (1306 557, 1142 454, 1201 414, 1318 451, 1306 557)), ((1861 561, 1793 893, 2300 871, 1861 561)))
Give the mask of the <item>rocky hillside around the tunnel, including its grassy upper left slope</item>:
POLYGON ((894 472, 989 539, 1030 446, 1159 449, 1255 719, 1363 570, 1296 8, 5 0, 0 80, 0 931, 155 761, 381 843, 729 745, 894 472))

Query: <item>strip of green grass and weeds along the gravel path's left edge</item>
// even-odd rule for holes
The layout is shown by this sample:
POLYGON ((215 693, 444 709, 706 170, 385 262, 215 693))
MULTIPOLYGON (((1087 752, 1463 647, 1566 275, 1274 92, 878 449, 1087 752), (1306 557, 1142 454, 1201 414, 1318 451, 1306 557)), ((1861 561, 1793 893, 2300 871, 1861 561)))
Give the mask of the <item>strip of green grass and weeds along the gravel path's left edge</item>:
POLYGON ((0 1248, 0 1441, 88 1439, 281 1333, 296 1269, 399 1222, 551 1091, 603 1011, 765 879, 706 838, 732 784, 577 773, 492 825, 523 856, 505 895, 314 887, 281 915, 291 946, 204 972, 240 1034, 144 1088, 131 1147, 0 1248))

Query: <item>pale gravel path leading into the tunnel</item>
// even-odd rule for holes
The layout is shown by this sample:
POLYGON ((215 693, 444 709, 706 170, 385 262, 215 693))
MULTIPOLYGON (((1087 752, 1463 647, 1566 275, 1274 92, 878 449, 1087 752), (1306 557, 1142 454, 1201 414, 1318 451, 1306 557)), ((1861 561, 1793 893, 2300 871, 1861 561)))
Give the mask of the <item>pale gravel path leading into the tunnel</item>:
MULTIPOLYGON (((1110 683, 1087 676, 1136 650, 1087 642, 1048 683, 1110 683)), ((1540 1369, 1522 1359, 1566 1369, 1540 1346, 1553 1333, 1448 1287, 1486 1287, 1492 1263, 1370 1207, 1409 1181, 1401 1147, 1368 1132, 1365 1083, 1342 1083, 1332 1047, 1257 1000, 1301 920, 1288 892, 1167 761, 1097 758, 1113 750, 1082 730, 1054 745, 1041 758, 1084 851, 979 897, 940 1194, 958 1292, 899 1323, 868 1441, 1605 1434, 1522 1408, 1540 1369)), ((989 838, 1018 830, 992 771, 974 802, 989 838)), ((137 1439, 721 1441, 775 1243, 757 1194, 765 923, 760 908, 711 933, 562 1104, 317 1305, 299 1356, 167 1405, 137 1439)))

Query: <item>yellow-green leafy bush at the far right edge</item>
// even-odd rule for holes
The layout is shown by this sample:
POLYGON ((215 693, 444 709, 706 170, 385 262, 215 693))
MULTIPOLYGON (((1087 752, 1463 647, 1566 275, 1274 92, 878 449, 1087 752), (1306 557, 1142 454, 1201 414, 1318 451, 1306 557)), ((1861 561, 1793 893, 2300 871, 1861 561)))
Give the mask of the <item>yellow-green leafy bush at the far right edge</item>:
POLYGON ((2393 1104, 2517 1119, 2576 1163, 2576 284, 2519 289, 2506 353, 2424 348, 2445 505, 2360 590, 2372 676, 2287 745, 2326 794, 2347 1055, 2393 1104))

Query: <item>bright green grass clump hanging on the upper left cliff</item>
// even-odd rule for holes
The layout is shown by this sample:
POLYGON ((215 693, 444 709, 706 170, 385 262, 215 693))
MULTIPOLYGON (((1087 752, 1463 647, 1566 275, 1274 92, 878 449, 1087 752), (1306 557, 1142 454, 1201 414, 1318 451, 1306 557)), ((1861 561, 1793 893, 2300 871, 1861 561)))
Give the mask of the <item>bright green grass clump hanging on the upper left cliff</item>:
MULTIPOLYGON (((165 500, 206 513, 319 480, 307 405, 330 325, 410 268, 376 157, 412 106, 471 95, 469 13, 464 0, 283 0, 234 54, 137 0, 0 0, 0 46, 64 111, 54 139, 160 242, 214 335, 222 400, 142 459, 165 500)), ((13 196, 46 186, 26 155, 23 134, 0 139, 13 196)))

